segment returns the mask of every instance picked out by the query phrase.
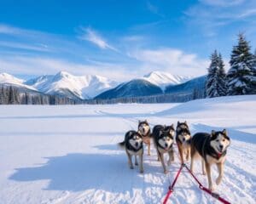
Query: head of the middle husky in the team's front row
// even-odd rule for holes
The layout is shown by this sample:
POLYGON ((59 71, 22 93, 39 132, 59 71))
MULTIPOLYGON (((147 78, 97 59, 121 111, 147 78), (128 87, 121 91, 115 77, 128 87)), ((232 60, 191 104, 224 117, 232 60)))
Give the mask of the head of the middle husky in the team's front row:
POLYGON ((165 150, 169 150, 172 147, 172 144, 174 142, 173 140, 174 133, 175 133, 175 130, 174 130, 173 124, 172 126, 166 126, 163 130, 160 130, 158 143, 165 150))

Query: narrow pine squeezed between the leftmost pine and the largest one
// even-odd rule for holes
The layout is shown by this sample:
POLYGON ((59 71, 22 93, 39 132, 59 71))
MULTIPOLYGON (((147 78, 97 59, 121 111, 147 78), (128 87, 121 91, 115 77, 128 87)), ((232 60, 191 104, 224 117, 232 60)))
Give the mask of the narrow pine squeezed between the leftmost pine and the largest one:
POLYGON ((219 96, 227 94, 226 73, 224 70, 224 61, 221 54, 218 54, 218 73, 217 73, 217 91, 219 96))

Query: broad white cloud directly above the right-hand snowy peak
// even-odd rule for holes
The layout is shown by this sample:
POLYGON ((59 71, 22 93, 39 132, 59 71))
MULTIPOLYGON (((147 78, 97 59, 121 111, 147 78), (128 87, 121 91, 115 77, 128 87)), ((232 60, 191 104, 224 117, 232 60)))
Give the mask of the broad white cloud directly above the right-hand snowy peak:
POLYGON ((206 74, 209 65, 207 59, 173 48, 136 50, 129 55, 143 63, 145 72, 160 70, 183 76, 200 76, 206 74))

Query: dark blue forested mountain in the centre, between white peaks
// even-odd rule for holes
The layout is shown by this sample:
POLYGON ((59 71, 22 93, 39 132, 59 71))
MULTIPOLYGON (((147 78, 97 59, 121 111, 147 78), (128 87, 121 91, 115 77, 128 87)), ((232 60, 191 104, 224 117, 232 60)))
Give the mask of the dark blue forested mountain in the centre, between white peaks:
POLYGON ((117 99, 155 94, 163 94, 160 87, 144 79, 134 79, 97 95, 95 99, 117 99))

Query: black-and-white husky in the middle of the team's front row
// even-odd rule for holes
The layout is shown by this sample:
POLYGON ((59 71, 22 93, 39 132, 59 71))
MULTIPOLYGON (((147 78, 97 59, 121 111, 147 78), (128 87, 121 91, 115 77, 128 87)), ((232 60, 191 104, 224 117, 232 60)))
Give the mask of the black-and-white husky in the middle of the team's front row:
POLYGON ((168 160, 168 166, 171 165, 171 161, 174 161, 173 156, 173 142, 174 142, 174 126, 161 126, 156 125, 153 128, 153 140, 154 140, 154 146, 157 151, 158 160, 161 161, 162 167, 164 168, 164 173, 168 173, 166 170, 166 164, 164 161, 164 154, 168 153, 169 160, 168 160))

